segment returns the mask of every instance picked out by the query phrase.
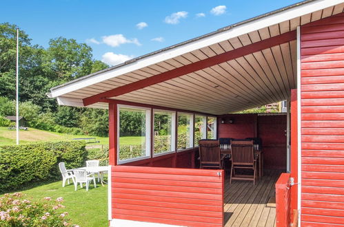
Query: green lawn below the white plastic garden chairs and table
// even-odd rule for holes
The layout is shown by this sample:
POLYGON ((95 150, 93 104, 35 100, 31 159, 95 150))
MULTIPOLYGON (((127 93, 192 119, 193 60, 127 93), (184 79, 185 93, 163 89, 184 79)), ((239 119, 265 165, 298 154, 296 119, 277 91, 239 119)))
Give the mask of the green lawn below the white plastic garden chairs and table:
POLYGON ((79 226, 108 226, 108 185, 101 186, 97 184, 90 185, 86 191, 85 184, 83 188, 78 186, 74 191, 74 185, 71 183, 64 188, 62 182, 54 182, 37 186, 25 191, 21 191, 26 197, 32 199, 43 199, 43 197, 63 197, 63 212, 68 212, 70 223, 79 226))

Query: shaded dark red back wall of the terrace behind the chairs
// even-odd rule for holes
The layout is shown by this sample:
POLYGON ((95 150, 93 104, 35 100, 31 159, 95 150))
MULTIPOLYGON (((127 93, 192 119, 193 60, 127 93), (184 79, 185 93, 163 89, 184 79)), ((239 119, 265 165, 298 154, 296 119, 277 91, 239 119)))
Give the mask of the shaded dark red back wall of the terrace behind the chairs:
POLYGON ((260 137, 263 142, 264 168, 285 169, 287 162, 286 115, 258 116, 257 114, 227 114, 219 118, 219 138, 260 137), (234 124, 221 124, 221 120, 234 124))

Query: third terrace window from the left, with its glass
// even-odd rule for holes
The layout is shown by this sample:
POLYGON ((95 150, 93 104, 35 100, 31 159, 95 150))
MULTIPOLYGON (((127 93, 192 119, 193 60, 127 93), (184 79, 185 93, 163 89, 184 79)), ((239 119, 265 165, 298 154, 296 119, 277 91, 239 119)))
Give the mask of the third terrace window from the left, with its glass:
POLYGON ((176 140, 177 149, 187 149, 192 147, 194 116, 192 114, 178 113, 178 138, 176 140))

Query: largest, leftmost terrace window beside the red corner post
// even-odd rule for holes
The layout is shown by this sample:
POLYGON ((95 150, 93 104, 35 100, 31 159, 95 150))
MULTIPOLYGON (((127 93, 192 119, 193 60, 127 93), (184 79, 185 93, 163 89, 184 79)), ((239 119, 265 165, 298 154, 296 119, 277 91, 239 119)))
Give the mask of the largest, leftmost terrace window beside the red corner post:
POLYGON ((150 156, 150 109, 119 107, 118 160, 150 156))

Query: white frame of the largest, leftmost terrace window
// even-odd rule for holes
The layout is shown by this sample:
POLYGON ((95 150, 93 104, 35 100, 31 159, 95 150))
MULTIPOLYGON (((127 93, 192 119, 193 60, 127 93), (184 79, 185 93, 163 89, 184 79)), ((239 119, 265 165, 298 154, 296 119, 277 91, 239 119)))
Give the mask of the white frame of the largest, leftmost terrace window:
POLYGON ((144 159, 148 159, 150 158, 150 150, 151 150, 151 129, 152 129, 152 125, 150 124, 150 120, 152 116, 152 112, 150 108, 146 108, 146 107, 138 107, 138 106, 132 106, 132 105, 117 105, 117 162, 118 164, 124 164, 124 163, 128 163, 128 162, 134 162, 137 160, 144 160, 144 159), (119 111, 121 108, 125 108, 125 109, 132 109, 134 110, 145 110, 145 156, 142 157, 138 157, 138 158, 130 158, 130 159, 126 159, 126 160, 120 160, 119 158, 119 133, 120 133, 120 128, 119 128, 119 111))

